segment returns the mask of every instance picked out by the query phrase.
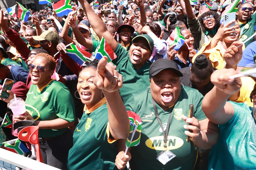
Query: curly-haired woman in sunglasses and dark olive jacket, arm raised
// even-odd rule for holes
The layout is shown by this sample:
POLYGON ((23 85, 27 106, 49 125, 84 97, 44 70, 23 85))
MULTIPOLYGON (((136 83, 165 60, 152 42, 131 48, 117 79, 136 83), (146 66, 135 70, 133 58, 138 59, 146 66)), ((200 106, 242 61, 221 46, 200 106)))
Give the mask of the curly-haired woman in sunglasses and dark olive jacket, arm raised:
POLYGON ((197 18, 192 11, 189 0, 185 0, 188 19, 187 23, 192 36, 195 38, 195 49, 200 50, 204 43, 208 42, 217 33, 221 17, 214 11, 207 11, 197 18))

